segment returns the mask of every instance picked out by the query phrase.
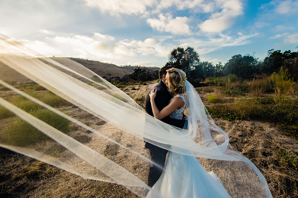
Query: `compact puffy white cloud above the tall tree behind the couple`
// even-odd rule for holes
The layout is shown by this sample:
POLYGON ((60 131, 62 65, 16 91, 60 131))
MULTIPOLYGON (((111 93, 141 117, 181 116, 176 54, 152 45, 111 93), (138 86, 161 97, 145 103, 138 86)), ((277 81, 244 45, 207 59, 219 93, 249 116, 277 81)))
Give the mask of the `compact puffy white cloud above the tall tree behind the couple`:
POLYGON ((147 19, 147 24, 149 24, 153 29, 160 32, 170 32, 174 35, 189 34, 188 18, 176 17, 173 19, 172 15, 165 17, 163 14, 158 15, 159 19, 147 19))

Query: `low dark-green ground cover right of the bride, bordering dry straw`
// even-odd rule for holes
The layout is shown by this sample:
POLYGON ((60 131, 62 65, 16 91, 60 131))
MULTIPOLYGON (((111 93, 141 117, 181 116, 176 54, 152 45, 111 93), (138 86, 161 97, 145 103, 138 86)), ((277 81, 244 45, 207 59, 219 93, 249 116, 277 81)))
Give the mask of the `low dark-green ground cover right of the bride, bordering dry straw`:
POLYGON ((225 120, 263 120, 279 123, 287 128, 286 134, 298 139, 298 100, 288 98, 283 105, 276 105, 275 97, 240 98, 233 104, 215 104, 206 107, 212 117, 225 120))

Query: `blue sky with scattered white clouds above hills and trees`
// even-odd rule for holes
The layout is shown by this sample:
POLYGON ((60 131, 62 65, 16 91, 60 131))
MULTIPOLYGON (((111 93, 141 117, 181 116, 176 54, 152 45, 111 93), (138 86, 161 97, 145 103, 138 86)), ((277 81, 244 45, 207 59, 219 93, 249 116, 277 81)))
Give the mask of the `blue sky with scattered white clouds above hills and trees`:
POLYGON ((0 33, 45 57, 162 67, 191 46, 216 64, 296 51, 297 13, 298 0, 1 0, 0 33))

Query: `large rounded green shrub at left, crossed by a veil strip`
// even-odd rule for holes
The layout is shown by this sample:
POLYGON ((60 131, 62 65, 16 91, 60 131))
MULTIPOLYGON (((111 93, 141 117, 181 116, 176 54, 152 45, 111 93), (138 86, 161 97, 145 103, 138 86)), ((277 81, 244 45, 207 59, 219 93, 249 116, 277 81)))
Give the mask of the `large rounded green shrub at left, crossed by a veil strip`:
MULTIPOLYGON (((63 133, 68 133, 70 130, 70 121, 53 113, 47 109, 31 110, 29 114, 51 125, 63 133)), ((7 131, 3 134, 4 140, 9 144, 25 146, 34 144, 40 141, 50 139, 48 136, 38 131, 29 123, 19 117, 10 118, 7 120, 7 131)))

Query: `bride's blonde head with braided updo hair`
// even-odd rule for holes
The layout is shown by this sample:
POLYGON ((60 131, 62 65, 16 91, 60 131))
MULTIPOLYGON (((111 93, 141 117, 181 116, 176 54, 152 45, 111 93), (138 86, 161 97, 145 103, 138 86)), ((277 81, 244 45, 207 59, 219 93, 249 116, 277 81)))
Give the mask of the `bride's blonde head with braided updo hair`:
POLYGON ((168 79, 167 85, 169 90, 172 92, 176 92, 178 94, 185 92, 185 81, 186 81, 186 74, 184 71, 176 68, 171 68, 167 70, 168 72, 168 79))

